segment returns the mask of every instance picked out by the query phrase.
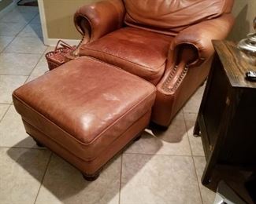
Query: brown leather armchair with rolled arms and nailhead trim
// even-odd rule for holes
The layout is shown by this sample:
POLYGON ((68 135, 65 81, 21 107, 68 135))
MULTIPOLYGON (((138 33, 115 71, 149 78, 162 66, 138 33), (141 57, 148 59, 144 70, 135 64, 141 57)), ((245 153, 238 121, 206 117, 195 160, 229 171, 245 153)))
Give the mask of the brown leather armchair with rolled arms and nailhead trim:
POLYGON ((81 56, 121 67, 157 87, 151 121, 169 126, 204 82, 212 39, 232 28, 233 0, 107 0, 85 5, 74 20, 81 56))

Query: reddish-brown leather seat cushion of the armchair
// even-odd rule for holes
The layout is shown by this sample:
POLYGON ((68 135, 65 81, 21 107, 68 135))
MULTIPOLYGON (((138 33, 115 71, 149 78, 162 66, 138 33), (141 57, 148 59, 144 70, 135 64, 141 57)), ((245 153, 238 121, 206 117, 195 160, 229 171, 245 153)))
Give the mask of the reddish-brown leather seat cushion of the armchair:
POLYGON ((156 85, 165 71, 172 36, 124 27, 95 42, 83 44, 80 54, 121 67, 156 85))

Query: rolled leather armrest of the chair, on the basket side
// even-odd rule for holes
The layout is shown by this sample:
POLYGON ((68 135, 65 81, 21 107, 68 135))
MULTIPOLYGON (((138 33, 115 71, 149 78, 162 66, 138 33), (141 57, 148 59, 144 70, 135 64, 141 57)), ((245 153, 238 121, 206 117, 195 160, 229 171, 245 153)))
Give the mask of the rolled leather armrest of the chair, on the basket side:
POLYGON ((121 0, 106 0, 83 5, 74 16, 76 29, 84 36, 83 43, 92 42, 123 24, 124 4, 121 0))

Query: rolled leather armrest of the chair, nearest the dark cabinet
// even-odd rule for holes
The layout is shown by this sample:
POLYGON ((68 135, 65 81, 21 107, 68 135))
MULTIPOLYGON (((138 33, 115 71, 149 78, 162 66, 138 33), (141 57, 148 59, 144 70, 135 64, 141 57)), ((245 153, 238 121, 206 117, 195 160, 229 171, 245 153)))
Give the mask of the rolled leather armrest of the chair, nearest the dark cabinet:
MULTIPOLYGON (((229 31, 232 29, 234 18, 232 14, 223 14, 220 17, 212 20, 205 20, 201 23, 191 25, 183 31, 180 31, 178 35, 173 39, 170 46, 171 61, 176 60, 176 56, 184 56, 186 54, 179 53, 184 50, 190 54, 187 56, 189 67, 195 67, 205 60, 208 60, 213 55, 214 49, 212 40, 221 40, 227 37, 229 31), (186 47, 186 49, 180 49, 180 47, 186 47), (191 52, 188 52, 187 48, 191 47, 194 51, 194 56, 191 52), (173 59, 172 59, 173 58, 173 59), (193 59, 193 60, 191 60, 193 59)), ((182 59, 181 59, 182 60, 182 59)), ((186 62, 187 63, 187 62, 186 62)))

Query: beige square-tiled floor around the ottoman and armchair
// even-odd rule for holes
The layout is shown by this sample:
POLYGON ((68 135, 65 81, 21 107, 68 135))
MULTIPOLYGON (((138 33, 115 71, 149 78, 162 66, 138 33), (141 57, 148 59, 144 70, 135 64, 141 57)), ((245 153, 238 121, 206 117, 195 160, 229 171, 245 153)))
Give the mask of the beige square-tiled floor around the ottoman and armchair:
POLYGON ((94 182, 24 131, 11 93, 47 71, 38 10, 18 7, 0 19, 0 203, 212 203, 200 184, 205 165, 192 136, 204 87, 165 132, 143 138, 105 167, 94 182))

